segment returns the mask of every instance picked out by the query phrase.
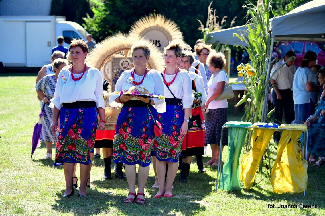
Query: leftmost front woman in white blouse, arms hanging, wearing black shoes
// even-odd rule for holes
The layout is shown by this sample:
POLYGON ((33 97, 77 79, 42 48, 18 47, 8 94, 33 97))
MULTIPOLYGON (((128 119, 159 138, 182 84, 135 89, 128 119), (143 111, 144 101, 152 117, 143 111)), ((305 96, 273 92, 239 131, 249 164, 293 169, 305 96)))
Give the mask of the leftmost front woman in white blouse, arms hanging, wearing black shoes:
POLYGON ((84 197, 97 125, 99 130, 105 129, 103 78, 98 69, 85 64, 88 47, 83 40, 72 40, 69 53, 73 64, 61 70, 50 104, 53 108, 53 132, 57 130, 60 115, 54 166, 64 165, 66 189, 63 197, 69 197, 74 190, 74 165, 80 164, 79 196, 84 197))

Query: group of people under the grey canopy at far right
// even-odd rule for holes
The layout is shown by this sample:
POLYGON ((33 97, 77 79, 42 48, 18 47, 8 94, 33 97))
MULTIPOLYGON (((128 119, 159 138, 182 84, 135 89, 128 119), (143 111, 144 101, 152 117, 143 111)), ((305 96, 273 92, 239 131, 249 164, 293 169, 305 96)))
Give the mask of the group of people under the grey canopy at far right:
MULTIPOLYGON (((272 99, 275 108, 276 123, 305 124, 308 127, 307 160, 315 165, 324 165, 324 84, 325 67, 317 65, 317 54, 307 51, 296 69, 295 56, 288 43, 279 46, 283 59, 276 63, 271 70, 272 99), (286 52, 284 52, 284 51, 286 52), (285 53, 285 54, 284 54, 285 53), (284 54, 284 55, 283 55, 284 54), (283 66, 282 66, 283 65, 283 66), (317 97, 317 95, 319 97, 317 97), (317 107, 317 109, 316 109, 317 107), (316 109, 316 112, 315 112, 316 109), (316 161, 318 157, 318 161, 316 161)), ((280 140, 280 133, 274 132, 274 141, 280 140)), ((300 137, 301 142, 304 136, 300 137)))

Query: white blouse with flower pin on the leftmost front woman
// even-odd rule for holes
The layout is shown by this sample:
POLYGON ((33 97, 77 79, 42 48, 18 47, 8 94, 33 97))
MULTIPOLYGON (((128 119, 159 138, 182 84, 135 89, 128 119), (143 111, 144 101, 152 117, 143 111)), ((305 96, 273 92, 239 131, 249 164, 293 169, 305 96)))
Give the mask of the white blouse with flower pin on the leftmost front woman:
MULTIPOLYGON (((82 74, 73 74, 75 78, 82 74)), ((69 67, 64 67, 58 76, 54 97, 49 107, 61 110, 62 103, 73 103, 76 101, 95 101, 96 106, 105 109, 103 98, 103 77, 98 69, 91 67, 85 71, 84 76, 74 81, 69 67)))

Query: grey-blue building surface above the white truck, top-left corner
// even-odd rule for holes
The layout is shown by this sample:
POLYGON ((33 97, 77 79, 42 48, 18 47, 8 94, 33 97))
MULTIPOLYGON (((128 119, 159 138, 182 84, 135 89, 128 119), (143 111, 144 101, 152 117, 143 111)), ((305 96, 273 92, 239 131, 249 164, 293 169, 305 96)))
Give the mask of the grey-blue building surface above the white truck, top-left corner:
POLYGON ((0 16, 48 16, 51 0, 1 0, 0 16))

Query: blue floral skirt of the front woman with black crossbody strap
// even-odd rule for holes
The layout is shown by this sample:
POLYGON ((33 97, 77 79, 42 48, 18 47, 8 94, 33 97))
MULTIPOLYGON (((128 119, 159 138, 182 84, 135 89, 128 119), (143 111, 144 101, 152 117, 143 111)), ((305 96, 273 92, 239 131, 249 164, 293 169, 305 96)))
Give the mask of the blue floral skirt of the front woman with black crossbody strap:
POLYGON ((184 112, 178 105, 167 104, 166 112, 159 113, 157 119, 162 124, 163 133, 154 141, 152 154, 160 161, 176 163, 182 153, 184 136, 179 133, 184 122, 184 112))

